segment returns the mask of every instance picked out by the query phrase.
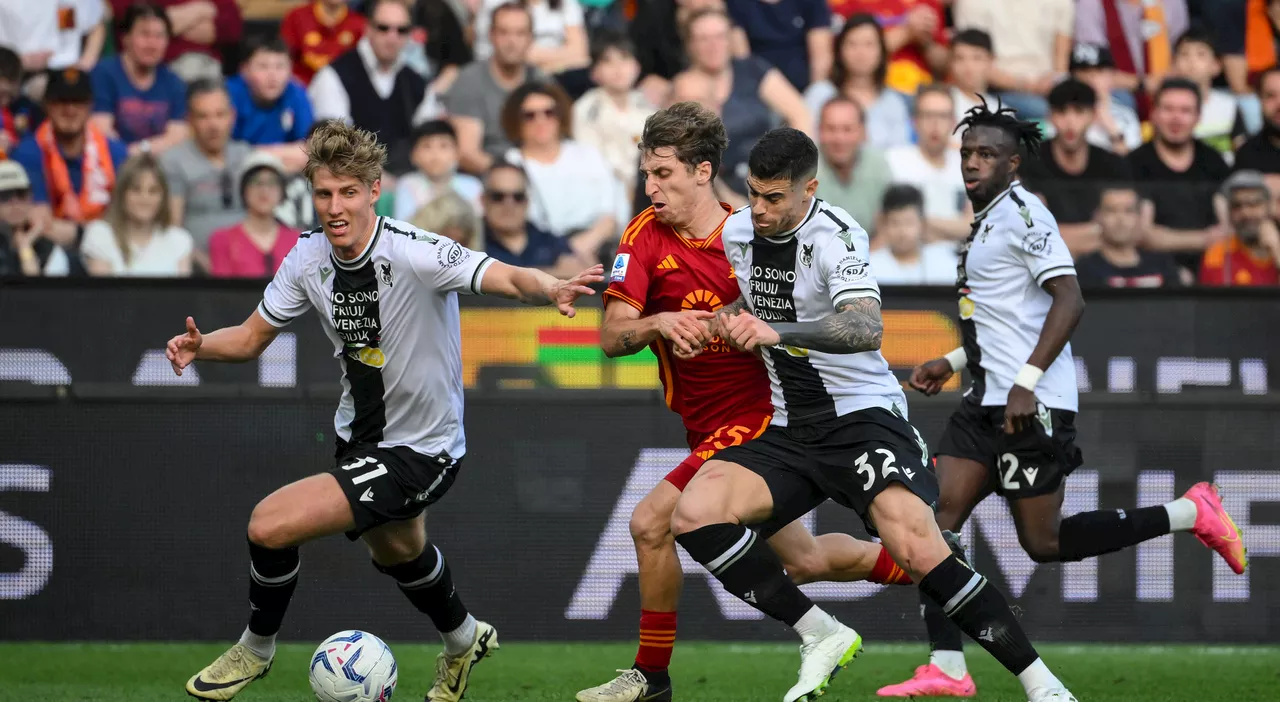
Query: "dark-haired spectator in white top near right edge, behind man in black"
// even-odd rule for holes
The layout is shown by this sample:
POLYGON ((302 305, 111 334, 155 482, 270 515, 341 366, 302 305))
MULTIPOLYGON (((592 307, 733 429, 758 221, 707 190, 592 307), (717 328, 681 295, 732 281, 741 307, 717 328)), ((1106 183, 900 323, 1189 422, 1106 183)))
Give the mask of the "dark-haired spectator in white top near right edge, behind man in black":
POLYGON ((1244 117, 1231 91, 1213 87, 1213 81, 1222 74, 1222 60, 1208 29, 1193 24, 1178 37, 1172 74, 1187 78, 1199 88, 1201 118, 1193 132, 1196 138, 1231 159, 1235 147, 1247 137, 1244 117))

